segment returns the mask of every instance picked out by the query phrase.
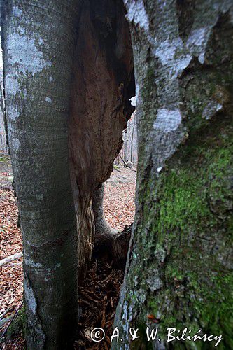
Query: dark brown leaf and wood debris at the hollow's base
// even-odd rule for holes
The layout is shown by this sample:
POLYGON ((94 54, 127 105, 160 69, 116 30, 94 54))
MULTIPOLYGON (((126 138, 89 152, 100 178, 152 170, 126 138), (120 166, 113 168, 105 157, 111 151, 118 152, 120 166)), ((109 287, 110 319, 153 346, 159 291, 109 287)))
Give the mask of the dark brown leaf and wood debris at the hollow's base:
POLYGON ((79 288, 80 321, 75 349, 110 349, 123 276, 122 269, 113 269, 106 261, 92 261, 85 284, 79 288), (94 328, 104 329, 105 337, 101 342, 92 341, 94 328))

